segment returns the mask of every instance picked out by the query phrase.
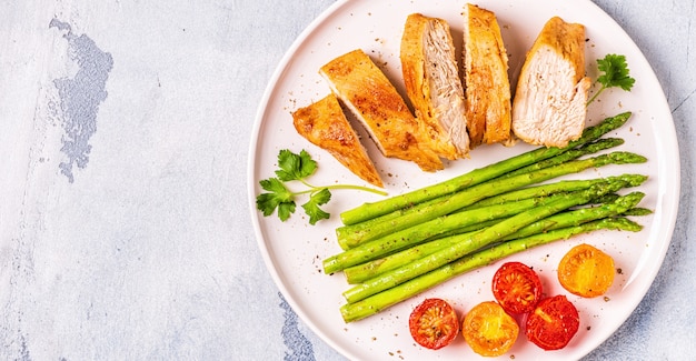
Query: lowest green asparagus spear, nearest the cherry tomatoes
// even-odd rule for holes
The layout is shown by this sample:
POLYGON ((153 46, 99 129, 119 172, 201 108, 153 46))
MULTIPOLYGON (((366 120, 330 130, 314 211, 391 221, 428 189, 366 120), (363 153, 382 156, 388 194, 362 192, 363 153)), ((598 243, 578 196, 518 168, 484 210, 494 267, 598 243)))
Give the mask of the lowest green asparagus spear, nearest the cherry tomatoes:
POLYGON ((434 271, 419 275, 361 301, 346 303, 341 307, 340 312, 346 323, 358 321, 377 314, 384 309, 415 297, 416 294, 419 294, 451 278, 477 268, 488 265, 495 261, 534 247, 550 243, 557 240, 568 239, 576 234, 588 233, 595 230, 624 230, 637 232, 642 227, 639 224, 625 218, 608 218, 583 223, 577 227, 559 229, 547 233, 539 233, 533 237, 504 242, 439 267, 434 271))

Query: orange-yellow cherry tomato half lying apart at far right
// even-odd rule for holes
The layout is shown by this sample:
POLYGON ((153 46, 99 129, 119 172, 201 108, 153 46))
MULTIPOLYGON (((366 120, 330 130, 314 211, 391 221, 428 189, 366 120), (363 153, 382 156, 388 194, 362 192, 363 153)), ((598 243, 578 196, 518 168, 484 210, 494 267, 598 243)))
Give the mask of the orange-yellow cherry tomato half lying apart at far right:
POLYGON ((604 294, 614 282, 614 259, 583 243, 574 247, 558 264, 558 281, 573 294, 593 298, 604 294))

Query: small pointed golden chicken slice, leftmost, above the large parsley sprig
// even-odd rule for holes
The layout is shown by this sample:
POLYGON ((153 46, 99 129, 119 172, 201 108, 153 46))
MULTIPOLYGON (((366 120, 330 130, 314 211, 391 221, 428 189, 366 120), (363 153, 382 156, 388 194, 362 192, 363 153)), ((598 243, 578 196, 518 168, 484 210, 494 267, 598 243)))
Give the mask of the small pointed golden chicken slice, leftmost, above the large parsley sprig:
POLYGON ((300 136, 331 153, 356 176, 374 185, 384 187, 375 164, 335 94, 296 110, 292 123, 300 136))

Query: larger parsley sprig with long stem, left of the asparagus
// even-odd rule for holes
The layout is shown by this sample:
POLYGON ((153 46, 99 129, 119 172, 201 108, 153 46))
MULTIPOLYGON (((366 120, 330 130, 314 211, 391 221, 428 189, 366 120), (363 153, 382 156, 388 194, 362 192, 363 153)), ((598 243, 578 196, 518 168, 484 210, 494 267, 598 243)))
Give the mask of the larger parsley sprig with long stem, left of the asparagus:
POLYGON ((330 214, 324 211, 320 205, 331 200, 330 190, 334 189, 356 189, 368 191, 381 195, 386 192, 360 185, 334 184, 325 187, 316 187, 307 182, 307 178, 317 171, 317 162, 311 156, 301 150, 299 154, 288 149, 280 150, 278 153, 278 170, 276 177, 259 181, 261 188, 268 192, 260 193, 256 198, 256 207, 264 213, 264 217, 271 215, 278 210, 278 218, 281 221, 288 220, 290 214, 295 213, 295 198, 302 194, 309 194, 309 200, 302 204, 305 213, 309 215, 309 223, 316 224, 322 219, 329 219, 330 214), (302 191, 290 191, 285 182, 298 181, 308 189, 302 191))

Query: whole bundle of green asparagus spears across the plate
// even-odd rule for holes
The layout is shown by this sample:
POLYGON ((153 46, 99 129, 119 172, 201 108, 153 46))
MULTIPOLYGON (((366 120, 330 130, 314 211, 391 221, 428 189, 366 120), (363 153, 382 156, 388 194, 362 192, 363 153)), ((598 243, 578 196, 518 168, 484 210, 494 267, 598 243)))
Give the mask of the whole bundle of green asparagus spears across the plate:
POLYGON ((607 118, 565 148, 538 148, 341 213, 345 225, 336 233, 344 251, 325 259, 324 270, 342 271, 354 284, 344 292, 344 320, 367 318, 533 247, 600 229, 639 231, 625 217, 649 213, 637 208, 644 193, 616 192, 642 184, 645 176, 543 183, 606 164, 645 162, 622 151, 579 159, 622 144, 600 138, 629 118, 630 112, 607 118))

